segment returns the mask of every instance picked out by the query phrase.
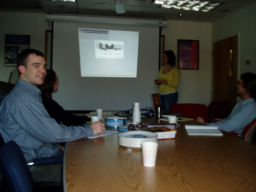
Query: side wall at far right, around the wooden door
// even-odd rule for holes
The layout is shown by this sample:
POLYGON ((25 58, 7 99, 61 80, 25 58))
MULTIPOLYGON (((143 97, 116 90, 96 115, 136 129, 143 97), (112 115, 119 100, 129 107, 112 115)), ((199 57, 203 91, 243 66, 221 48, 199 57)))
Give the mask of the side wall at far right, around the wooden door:
POLYGON ((212 23, 212 43, 238 35, 238 77, 256 73, 256 2, 212 23), (251 65, 246 65, 251 60, 251 65))

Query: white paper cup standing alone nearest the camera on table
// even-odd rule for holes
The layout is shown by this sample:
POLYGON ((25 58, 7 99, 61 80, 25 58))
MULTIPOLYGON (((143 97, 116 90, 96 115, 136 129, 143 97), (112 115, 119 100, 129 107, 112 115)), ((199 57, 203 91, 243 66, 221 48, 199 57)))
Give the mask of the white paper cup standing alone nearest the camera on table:
POLYGON ((154 167, 156 165, 158 143, 144 142, 141 143, 143 165, 146 167, 154 167))

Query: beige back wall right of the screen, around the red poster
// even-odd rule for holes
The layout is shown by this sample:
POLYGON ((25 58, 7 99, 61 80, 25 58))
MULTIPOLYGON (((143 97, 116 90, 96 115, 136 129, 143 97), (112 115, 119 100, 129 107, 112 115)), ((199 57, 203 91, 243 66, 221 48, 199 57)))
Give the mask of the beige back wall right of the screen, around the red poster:
POLYGON ((173 50, 177 56, 178 39, 199 40, 199 70, 180 70, 178 103, 210 103, 211 82, 211 24, 168 20, 165 50, 173 50))

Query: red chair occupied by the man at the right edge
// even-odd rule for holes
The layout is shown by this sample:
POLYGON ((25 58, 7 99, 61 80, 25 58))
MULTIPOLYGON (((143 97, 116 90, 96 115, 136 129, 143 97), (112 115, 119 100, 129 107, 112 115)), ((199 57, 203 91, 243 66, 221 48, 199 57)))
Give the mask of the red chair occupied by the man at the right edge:
POLYGON ((252 143, 254 134, 256 131, 256 118, 253 119, 244 129, 244 131, 242 132, 242 134, 238 134, 238 133, 233 133, 233 132, 229 132, 232 135, 238 136, 242 139, 244 139, 245 141, 252 143))

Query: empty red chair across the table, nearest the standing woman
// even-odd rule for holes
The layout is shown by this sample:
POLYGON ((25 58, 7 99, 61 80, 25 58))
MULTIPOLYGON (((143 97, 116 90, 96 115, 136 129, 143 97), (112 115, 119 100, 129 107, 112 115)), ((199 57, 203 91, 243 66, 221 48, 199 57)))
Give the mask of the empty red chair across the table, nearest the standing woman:
POLYGON ((172 104, 170 109, 172 113, 181 113, 181 117, 197 119, 197 117, 202 117, 205 122, 207 122, 207 106, 205 104, 197 103, 177 103, 172 104))

